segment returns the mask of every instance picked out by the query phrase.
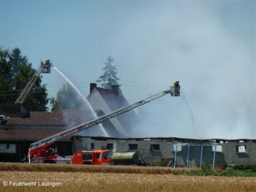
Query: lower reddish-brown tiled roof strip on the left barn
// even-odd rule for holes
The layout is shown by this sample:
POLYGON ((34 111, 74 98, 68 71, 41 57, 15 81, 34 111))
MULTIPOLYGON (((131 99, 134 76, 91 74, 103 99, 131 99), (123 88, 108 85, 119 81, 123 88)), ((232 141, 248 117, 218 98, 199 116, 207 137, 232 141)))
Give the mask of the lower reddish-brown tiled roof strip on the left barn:
MULTIPOLYGON (((0 129, 0 140, 41 140, 60 133, 57 129, 0 129)), ((70 140, 72 136, 61 140, 70 140)))

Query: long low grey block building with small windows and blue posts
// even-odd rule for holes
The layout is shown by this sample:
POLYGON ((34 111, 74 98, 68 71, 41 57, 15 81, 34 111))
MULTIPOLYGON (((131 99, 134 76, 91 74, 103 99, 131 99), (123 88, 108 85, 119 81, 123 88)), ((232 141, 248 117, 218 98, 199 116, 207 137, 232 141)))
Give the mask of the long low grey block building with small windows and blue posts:
POLYGON ((200 167, 202 164, 231 165, 256 163, 256 140, 185 139, 185 138, 73 138, 73 151, 106 146, 109 154, 138 151, 145 162, 156 163, 161 157, 173 165, 200 167), (214 162, 214 163, 213 163, 214 162))

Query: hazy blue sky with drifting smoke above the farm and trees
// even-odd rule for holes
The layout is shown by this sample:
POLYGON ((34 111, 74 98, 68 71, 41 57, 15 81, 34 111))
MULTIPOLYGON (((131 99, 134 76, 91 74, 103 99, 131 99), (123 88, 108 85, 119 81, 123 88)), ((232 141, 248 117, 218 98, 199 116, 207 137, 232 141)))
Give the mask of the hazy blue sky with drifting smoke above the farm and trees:
MULTIPOLYGON (((87 97, 111 55, 140 136, 255 139, 255 1, 2 1, 0 44, 50 58, 87 97), (102 54, 102 59, 101 59, 102 54), (190 110, 191 113, 190 113, 190 110), (194 121, 193 121, 194 117, 194 121)), ((49 97, 65 80, 43 74, 49 97)))

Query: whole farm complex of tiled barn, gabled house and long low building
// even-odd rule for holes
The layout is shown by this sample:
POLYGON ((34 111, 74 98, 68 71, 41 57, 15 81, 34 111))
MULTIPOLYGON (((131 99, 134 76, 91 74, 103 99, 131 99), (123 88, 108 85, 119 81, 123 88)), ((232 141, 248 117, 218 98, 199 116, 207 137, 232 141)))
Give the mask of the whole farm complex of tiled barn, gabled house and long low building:
MULTIPOLYGON (((87 100, 97 116, 102 116, 129 105, 118 86, 112 90, 91 84, 87 100)), ((0 162, 21 162, 30 144, 50 137, 95 117, 87 106, 81 110, 27 111, 21 104, 1 104, 0 115, 7 121, 0 125, 0 162)), ((161 157, 172 160, 175 166, 255 164, 256 140, 249 139, 185 139, 131 138, 137 115, 133 110, 102 123, 107 135, 96 125, 91 129, 62 138, 50 148, 58 148, 59 155, 73 155, 77 150, 100 149, 106 146, 114 152, 138 151, 145 162, 156 163, 161 157)))

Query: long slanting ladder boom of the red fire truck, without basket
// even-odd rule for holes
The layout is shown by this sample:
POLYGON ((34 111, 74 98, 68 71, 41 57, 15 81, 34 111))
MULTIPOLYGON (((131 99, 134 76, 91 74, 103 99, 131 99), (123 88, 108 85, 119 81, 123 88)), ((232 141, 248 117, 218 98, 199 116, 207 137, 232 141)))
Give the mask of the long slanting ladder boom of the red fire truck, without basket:
POLYGON ((77 133, 79 131, 82 131, 82 130, 84 131, 86 129, 89 129, 90 127, 92 127, 94 125, 98 125, 99 123, 102 123, 103 121, 105 121, 107 119, 113 118, 113 117, 115 117, 117 115, 121 115, 123 113, 126 113, 127 111, 129 111, 131 109, 134 109, 136 107, 144 105, 145 103, 148 103, 149 101, 152 101, 154 99, 162 97, 162 96, 164 96, 164 95, 166 95, 168 93, 171 93, 171 90, 162 91, 162 92, 157 93, 157 94, 155 94, 155 95, 153 95, 151 97, 148 97, 146 99, 143 99, 143 100, 140 100, 138 102, 135 102, 135 103, 133 103, 133 104, 131 104, 129 106, 126 106, 126 107, 123 107, 121 109, 115 110, 115 111, 113 111, 111 113, 108 113, 107 115, 103 115, 101 117, 95 118, 95 119, 93 119, 93 120, 91 120, 89 122, 86 122, 84 124, 77 125, 75 127, 72 127, 71 129, 68 129, 68 130, 62 131, 62 132, 60 132, 58 134, 52 135, 51 137, 39 140, 39 141, 34 142, 34 143, 31 143, 29 151, 37 149, 39 147, 43 147, 43 146, 49 145, 50 143, 52 143, 54 141, 57 141, 57 140, 60 140, 62 138, 65 138, 68 135, 72 135, 72 134, 77 133))

